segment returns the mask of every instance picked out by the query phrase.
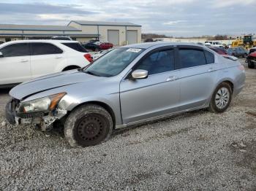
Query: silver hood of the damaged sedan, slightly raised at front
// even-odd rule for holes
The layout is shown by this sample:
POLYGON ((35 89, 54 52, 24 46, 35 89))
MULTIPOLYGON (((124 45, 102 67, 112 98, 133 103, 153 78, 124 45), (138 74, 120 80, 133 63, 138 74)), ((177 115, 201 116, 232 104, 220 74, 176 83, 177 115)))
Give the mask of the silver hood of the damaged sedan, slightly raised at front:
MULTIPOLYGON (((100 77, 101 78, 101 77, 100 77)), ((35 93, 51 90, 56 87, 74 85, 82 82, 89 82, 99 79, 82 71, 72 70, 50 74, 47 76, 33 79, 29 82, 23 82, 10 90, 10 95, 19 100, 35 93)))

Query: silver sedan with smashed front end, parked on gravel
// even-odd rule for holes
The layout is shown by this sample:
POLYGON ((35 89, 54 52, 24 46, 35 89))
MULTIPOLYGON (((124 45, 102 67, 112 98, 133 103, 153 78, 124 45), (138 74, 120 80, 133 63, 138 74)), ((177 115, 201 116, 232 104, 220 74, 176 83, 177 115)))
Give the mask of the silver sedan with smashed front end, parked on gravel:
POLYGON ((40 77, 10 90, 11 124, 64 125, 72 146, 110 138, 113 129, 208 108, 225 112, 244 87, 238 58, 185 43, 119 47, 80 70, 40 77))

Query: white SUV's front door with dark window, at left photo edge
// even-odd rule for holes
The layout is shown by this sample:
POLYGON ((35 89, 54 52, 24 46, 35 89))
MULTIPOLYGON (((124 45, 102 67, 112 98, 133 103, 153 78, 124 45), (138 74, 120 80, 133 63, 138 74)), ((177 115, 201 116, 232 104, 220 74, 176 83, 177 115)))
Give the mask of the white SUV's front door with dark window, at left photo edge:
POLYGON ((0 85, 15 84, 31 79, 28 43, 9 44, 0 49, 0 85))

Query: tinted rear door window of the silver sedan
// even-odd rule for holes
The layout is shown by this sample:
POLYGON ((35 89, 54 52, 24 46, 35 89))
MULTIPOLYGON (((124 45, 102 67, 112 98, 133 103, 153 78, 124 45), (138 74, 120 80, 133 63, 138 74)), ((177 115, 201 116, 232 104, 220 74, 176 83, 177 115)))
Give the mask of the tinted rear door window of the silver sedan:
POLYGON ((181 60, 181 68, 189 68, 206 64, 206 58, 203 50, 180 49, 178 51, 181 60))

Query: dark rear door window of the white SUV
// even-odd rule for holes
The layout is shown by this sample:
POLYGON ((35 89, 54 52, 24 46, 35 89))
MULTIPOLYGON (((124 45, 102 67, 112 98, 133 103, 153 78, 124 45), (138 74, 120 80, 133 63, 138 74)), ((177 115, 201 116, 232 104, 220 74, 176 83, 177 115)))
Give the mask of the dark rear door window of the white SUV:
POLYGON ((63 51, 50 43, 36 42, 31 43, 31 55, 53 55, 61 54, 63 51))

